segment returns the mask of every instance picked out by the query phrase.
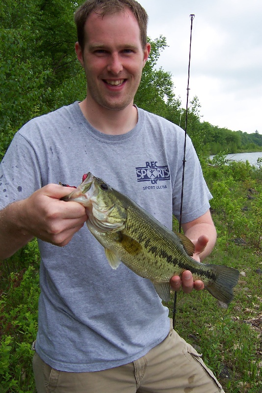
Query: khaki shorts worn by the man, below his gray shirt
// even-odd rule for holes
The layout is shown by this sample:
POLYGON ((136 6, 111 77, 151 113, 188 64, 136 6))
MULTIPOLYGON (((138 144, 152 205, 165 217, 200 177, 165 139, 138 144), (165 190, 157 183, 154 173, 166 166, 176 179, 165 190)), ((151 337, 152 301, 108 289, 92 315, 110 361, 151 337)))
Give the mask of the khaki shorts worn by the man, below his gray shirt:
POLYGON ((201 355, 173 329, 145 356, 95 372, 65 372, 37 353, 33 369, 38 393, 224 393, 201 355))

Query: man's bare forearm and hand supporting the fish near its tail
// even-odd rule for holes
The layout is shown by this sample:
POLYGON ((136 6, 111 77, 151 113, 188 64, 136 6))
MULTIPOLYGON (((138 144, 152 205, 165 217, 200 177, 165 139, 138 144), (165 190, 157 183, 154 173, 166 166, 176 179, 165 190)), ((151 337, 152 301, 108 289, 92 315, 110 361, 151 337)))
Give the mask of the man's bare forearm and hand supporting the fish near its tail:
MULTIPOLYGON (((201 262, 211 253, 216 242, 216 229, 210 210, 196 220, 183 224, 182 227, 184 235, 195 244, 193 258, 201 262)), ((188 270, 183 272, 182 280, 179 276, 174 276, 170 283, 175 291, 178 291, 182 285, 185 293, 190 293, 193 289, 204 289, 204 283, 200 280, 193 281, 192 274, 188 270)))

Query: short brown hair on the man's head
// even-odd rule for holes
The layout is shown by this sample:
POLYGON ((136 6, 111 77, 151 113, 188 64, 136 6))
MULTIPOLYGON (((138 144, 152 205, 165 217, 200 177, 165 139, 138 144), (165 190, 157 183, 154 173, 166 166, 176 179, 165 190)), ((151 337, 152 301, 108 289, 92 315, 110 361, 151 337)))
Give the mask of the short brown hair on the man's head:
POLYGON ((125 12, 125 8, 129 8, 137 20, 142 48, 147 43, 147 21, 148 15, 145 9, 135 0, 86 0, 75 13, 75 23, 77 26, 78 42, 80 48, 84 49, 85 33, 84 25, 91 14, 95 11, 102 18, 105 15, 115 12, 125 12))

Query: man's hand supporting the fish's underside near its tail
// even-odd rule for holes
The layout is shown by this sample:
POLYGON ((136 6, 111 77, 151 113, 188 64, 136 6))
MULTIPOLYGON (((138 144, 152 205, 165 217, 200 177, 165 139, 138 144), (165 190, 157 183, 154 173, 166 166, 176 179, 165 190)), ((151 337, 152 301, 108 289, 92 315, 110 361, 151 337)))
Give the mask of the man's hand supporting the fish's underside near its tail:
MULTIPOLYGON (((200 254, 205 250, 208 244, 209 238, 206 235, 201 235, 197 240, 192 240, 195 245, 195 253, 193 258, 200 262, 200 254)), ((179 276, 173 276, 170 280, 170 284, 173 290, 178 291, 182 285, 184 293, 190 293, 193 289, 200 291, 204 289, 204 282, 200 280, 193 281, 192 273, 189 270, 185 270, 182 274, 182 279, 179 276)))

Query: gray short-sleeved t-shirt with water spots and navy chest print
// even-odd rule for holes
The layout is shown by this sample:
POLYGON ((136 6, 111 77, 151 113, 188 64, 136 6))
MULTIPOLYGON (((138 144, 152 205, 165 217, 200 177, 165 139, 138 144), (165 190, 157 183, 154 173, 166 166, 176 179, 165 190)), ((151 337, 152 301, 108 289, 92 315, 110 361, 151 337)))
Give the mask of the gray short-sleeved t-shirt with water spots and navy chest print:
MULTIPOLYGON (((16 133, 0 165, 0 208, 49 183, 78 186, 91 171, 131 197, 163 225, 180 214, 184 132, 138 109, 130 132, 93 128, 78 102, 32 119, 16 133)), ((210 207, 210 192, 187 139, 183 222, 210 207)), ((39 240, 36 351, 62 371, 98 371, 145 355, 169 332, 168 310, 151 281, 124 264, 109 266, 86 225, 61 248, 39 240)))

